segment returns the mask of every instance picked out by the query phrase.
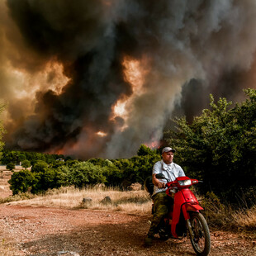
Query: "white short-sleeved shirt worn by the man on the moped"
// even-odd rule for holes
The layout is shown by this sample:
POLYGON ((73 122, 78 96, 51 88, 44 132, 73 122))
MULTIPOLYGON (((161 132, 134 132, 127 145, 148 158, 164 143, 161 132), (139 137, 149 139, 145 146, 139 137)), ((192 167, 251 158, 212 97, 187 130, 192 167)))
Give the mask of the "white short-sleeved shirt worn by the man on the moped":
MULTIPOLYGON (((183 168, 181 168, 178 164, 165 164, 163 160, 156 162, 153 167, 153 174, 163 173, 164 177, 168 179, 168 182, 173 182, 177 177, 186 176, 183 168)), ((166 179, 159 179, 161 183, 167 183, 166 179)), ((154 194, 158 192, 165 191, 167 187, 159 188, 154 186, 154 194)))

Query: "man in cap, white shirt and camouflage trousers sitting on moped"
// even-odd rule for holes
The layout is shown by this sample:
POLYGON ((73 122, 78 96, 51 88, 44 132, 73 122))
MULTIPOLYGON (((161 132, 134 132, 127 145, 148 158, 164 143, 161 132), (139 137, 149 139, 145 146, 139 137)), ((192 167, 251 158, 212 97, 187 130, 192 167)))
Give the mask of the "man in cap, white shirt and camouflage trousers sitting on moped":
POLYGON ((152 181, 154 183, 154 192, 152 199, 154 201, 154 217, 151 222, 149 233, 145 238, 145 245, 151 245, 154 234, 158 233, 158 226, 162 218, 168 213, 168 205, 173 204, 173 198, 168 197, 165 193, 166 180, 155 178, 158 173, 163 173, 169 182, 174 181, 177 177, 185 176, 183 168, 173 163, 173 154, 175 149, 166 147, 162 150, 162 160, 155 163, 153 167, 152 181))

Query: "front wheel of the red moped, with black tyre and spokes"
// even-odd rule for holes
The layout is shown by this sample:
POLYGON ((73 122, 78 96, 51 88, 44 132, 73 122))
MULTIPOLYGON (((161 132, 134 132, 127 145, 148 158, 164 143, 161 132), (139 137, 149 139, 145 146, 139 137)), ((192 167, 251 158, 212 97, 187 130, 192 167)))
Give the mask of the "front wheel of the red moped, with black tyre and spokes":
POLYGON ((199 212, 192 212, 190 218, 192 247, 199 256, 207 256, 211 249, 211 238, 204 216, 199 212))

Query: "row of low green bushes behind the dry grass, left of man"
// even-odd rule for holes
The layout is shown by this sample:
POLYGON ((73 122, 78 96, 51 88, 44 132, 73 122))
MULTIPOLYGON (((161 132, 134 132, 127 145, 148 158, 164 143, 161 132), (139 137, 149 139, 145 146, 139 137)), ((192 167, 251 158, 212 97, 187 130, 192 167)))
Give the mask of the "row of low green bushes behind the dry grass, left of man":
MULTIPOLYGON (((31 177, 22 176, 22 186, 13 183, 15 192, 23 192, 29 189, 32 193, 45 192, 49 188, 60 186, 74 186, 78 188, 105 183, 107 186, 128 187, 131 183, 144 183, 152 173, 153 165, 160 159, 159 154, 145 145, 140 146, 139 156, 131 159, 89 159, 86 162, 68 159, 66 162, 53 159, 52 162, 45 162, 40 154, 34 154, 36 159, 31 159, 31 174, 33 176, 33 186, 31 177), (50 163, 49 163, 50 162, 50 163), (27 185, 25 185, 27 183, 27 185)), ((10 151, 8 155, 17 158, 17 151, 10 151)), ((19 154, 18 154, 19 155, 19 154)), ((29 158, 26 155, 26 158, 29 158)), ((22 166, 28 163, 24 160, 22 166)), ((24 166, 25 168, 25 166, 24 166)))

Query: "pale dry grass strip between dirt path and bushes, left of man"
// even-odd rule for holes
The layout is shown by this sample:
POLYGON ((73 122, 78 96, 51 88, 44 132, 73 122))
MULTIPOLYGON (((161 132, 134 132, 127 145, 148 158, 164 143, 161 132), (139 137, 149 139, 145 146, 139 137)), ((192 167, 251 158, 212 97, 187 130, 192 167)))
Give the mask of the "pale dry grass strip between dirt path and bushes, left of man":
POLYGON ((152 201, 144 190, 122 192, 116 188, 85 188, 63 187, 59 190, 46 192, 22 201, 12 201, 12 205, 50 206, 60 208, 87 208, 108 211, 126 211, 127 213, 148 214, 152 201), (105 197, 111 198, 111 203, 103 203, 105 197), (91 202, 83 203, 83 198, 91 198, 91 202))

